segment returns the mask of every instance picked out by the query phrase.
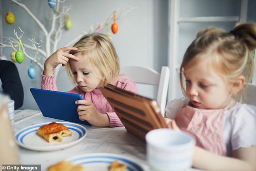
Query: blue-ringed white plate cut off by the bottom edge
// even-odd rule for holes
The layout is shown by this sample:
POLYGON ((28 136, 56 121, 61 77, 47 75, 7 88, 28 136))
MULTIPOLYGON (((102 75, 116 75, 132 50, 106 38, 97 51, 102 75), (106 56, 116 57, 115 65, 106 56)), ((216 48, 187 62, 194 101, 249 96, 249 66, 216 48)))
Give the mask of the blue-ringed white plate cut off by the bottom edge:
POLYGON ((89 153, 69 158, 66 161, 82 165, 86 171, 108 171, 113 161, 127 165, 125 171, 144 171, 134 159, 112 153, 89 153))

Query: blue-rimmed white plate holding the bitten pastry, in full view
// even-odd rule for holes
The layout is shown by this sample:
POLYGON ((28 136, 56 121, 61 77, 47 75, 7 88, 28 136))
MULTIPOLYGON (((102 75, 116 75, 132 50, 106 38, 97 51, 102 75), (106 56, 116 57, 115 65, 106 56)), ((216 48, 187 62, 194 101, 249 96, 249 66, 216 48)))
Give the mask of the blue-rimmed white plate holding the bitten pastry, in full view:
POLYGON ((72 136, 64 137, 63 141, 61 142, 49 143, 36 134, 40 126, 43 126, 49 123, 50 122, 32 125, 20 130, 15 134, 16 142, 20 146, 30 150, 39 150, 39 151, 59 150, 59 149, 67 148, 69 146, 73 146, 74 144, 77 144, 82 139, 84 139, 84 137, 87 134, 87 130, 86 128, 84 128, 84 126, 81 126, 79 124, 74 124, 71 122, 57 122, 69 128, 69 130, 72 132, 72 136))

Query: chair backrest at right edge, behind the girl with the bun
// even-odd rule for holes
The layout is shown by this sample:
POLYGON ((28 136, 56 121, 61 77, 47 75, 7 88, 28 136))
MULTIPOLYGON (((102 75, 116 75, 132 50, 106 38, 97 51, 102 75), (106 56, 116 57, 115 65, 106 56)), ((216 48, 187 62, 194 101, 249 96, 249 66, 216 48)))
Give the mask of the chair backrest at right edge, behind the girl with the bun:
POLYGON ((247 83, 242 103, 256 106, 256 85, 247 83))

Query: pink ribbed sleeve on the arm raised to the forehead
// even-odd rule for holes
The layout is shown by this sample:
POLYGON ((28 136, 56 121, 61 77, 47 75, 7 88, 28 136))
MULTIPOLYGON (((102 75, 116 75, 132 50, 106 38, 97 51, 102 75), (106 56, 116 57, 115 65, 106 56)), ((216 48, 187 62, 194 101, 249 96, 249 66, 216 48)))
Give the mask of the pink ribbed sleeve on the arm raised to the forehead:
POLYGON ((41 77, 42 77, 41 89, 58 91, 56 82, 55 82, 55 75, 46 76, 46 75, 43 75, 43 72, 42 72, 41 77))

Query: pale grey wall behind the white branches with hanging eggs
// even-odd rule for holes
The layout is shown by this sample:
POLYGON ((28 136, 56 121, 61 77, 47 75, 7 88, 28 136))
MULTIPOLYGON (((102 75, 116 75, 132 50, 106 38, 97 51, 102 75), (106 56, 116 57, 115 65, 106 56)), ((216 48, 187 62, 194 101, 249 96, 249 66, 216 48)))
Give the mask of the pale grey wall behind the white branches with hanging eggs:
MULTIPOLYGON (((47 0, 22 0, 38 19, 48 24, 50 8, 47 0)), ((37 40, 44 36, 40 28, 31 17, 16 4, 10 4, 9 0, 2 0, 2 30, 3 36, 13 36, 13 29, 18 30, 20 26, 24 33, 23 43, 29 43, 27 38, 36 37, 37 40), (9 8, 15 14, 16 21, 13 25, 5 22, 4 16, 9 8)), ((168 48, 168 0, 66 0, 65 4, 72 4, 72 11, 69 13, 73 21, 73 27, 63 33, 58 48, 63 47, 82 31, 89 31, 90 25, 97 25, 97 22, 105 21, 113 10, 122 10, 128 6, 137 7, 129 14, 117 21, 118 33, 112 35, 112 41, 120 57, 120 65, 146 66, 160 71, 162 65, 167 65, 168 48), (160 27, 159 27, 160 26, 160 27)), ((48 27, 46 27, 48 28, 48 27)), ((106 30, 102 29, 102 33, 106 30)), ((4 54, 10 60, 12 49, 5 48, 4 54)), ((25 93, 24 104, 21 109, 38 109, 31 93, 30 87, 40 88, 40 68, 34 65, 38 74, 33 80, 27 75, 30 61, 25 59, 22 64, 15 63, 18 67, 25 93)), ((73 85, 67 78, 64 68, 61 68, 57 78, 59 91, 69 91, 73 85)), ((139 85, 139 92, 148 97, 155 97, 155 87, 144 87, 139 85)))

